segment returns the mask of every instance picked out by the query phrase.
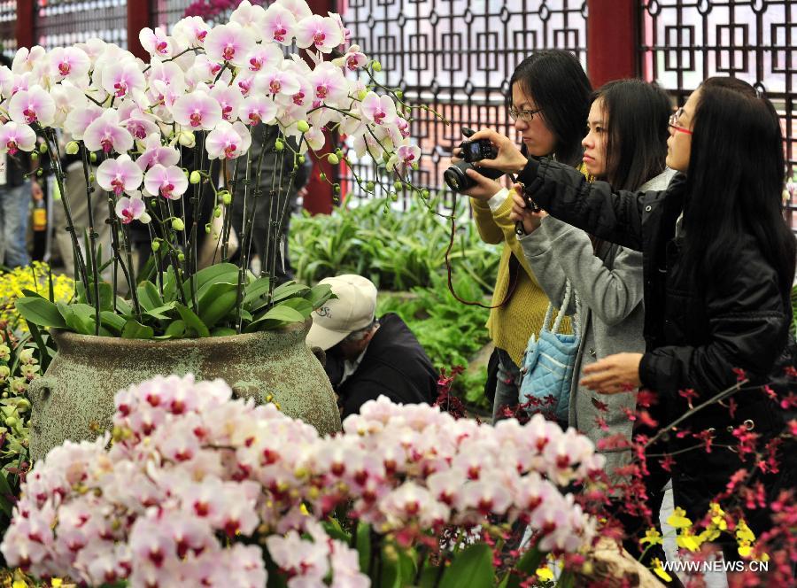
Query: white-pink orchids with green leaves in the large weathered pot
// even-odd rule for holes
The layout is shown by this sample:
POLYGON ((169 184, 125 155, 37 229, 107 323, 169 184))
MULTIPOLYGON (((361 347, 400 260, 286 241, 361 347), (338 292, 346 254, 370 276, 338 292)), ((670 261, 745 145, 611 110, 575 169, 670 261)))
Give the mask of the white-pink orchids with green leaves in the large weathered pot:
POLYGON ((277 285, 276 255, 252 275, 249 251, 262 206, 275 220, 267 251, 279 247, 287 192, 307 151, 333 164, 348 161, 348 152, 328 145, 329 130, 346 135, 358 157, 372 157, 389 183, 410 185, 407 170, 420 155, 408 136, 410 110, 375 81, 381 66, 347 46, 346 36, 336 14, 313 14, 304 0, 267 9, 244 1, 214 27, 190 17, 170 35, 144 29, 150 63, 92 39, 20 49, 12 68, 0 70, 0 151, 50 154, 74 249, 72 302, 32 291, 17 302, 34 337, 52 329, 59 350, 30 391, 34 457, 107 428, 113 391, 155 374, 224 377, 239 395, 272 399, 322 432, 339 429, 329 382, 304 342, 310 313, 329 289, 277 285), (333 51, 337 57, 326 60, 333 51), (271 190, 260 188, 268 183, 261 182, 265 150, 251 157, 255 125, 276 129, 271 155, 291 170, 285 181, 282 165, 272 166, 271 190), (65 189, 64 152, 81 159, 85 193, 65 189), (102 259, 97 219, 89 217, 85 236, 76 234, 70 203, 77 198, 89 210, 97 198, 107 201, 111 259, 102 259), (243 198, 244 229, 231 263, 235 198, 243 198), (208 200, 213 217, 223 219, 220 230, 188 213, 208 200), (149 228, 149 273, 135 271, 134 221, 149 228), (203 234, 219 253, 200 268, 203 234))

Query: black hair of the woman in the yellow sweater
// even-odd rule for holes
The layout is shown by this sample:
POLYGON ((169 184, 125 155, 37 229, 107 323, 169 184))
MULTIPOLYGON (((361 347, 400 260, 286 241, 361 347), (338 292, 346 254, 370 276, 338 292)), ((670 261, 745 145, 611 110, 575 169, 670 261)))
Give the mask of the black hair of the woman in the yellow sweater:
POLYGON ((556 159, 578 166, 592 85, 576 56, 561 49, 546 49, 523 59, 509 79, 507 103, 511 103, 515 83, 521 84, 542 111, 547 128, 556 138, 553 150, 556 159))

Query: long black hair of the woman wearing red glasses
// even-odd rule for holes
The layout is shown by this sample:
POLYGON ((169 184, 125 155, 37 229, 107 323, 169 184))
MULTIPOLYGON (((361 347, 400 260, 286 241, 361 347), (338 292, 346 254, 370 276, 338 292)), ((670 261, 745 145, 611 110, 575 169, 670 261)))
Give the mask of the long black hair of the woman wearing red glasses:
POLYGON ((739 233, 754 236, 778 272, 786 299, 795 244, 783 218, 783 131, 770 100, 744 81, 708 78, 700 85, 686 172, 685 266, 698 283, 723 283, 739 233), (709 277, 706 277, 709 276, 709 277))

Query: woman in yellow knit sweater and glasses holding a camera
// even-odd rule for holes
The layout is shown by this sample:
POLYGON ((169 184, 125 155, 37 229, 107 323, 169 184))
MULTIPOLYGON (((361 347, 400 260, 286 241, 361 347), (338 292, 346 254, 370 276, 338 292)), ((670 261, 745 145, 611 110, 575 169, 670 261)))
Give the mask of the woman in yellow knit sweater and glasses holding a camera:
MULTIPOLYGON (((580 167, 592 87, 576 57, 563 50, 537 51, 515 68, 510 88, 509 115, 525 151, 580 167)), ((515 221, 509 218, 513 204, 509 190, 472 169, 467 174, 476 182, 464 193, 470 196, 479 235, 486 243, 504 244, 487 321, 499 359, 492 409, 495 421, 505 407, 517 404, 518 365, 531 333, 542 326, 548 299, 517 241, 515 221)))

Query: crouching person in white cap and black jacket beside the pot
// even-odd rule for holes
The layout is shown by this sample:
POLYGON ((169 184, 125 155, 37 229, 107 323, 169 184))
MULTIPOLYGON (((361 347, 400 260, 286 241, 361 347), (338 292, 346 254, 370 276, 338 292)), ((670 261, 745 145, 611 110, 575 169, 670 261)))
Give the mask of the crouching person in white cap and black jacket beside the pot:
POLYGON ((327 353, 325 366, 343 418, 380 395, 401 404, 437 398, 437 372, 398 314, 375 317, 376 287, 361 275, 337 275, 337 295, 313 313, 307 344, 327 353))

